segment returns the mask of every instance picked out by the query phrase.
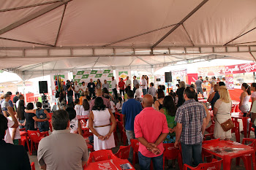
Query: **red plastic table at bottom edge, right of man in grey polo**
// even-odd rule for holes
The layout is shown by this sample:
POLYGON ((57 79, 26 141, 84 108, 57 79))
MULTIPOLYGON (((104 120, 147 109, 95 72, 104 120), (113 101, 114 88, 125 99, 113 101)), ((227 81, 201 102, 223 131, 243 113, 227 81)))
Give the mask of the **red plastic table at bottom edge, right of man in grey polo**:
MULTIPOLYGON (((121 169, 121 164, 129 163, 127 159, 110 159, 107 161, 99 161, 94 163, 89 163, 88 166, 85 167, 86 170, 97 170, 97 169, 121 169)), ((131 163, 129 163, 129 166, 132 167, 132 169, 135 169, 131 163)))

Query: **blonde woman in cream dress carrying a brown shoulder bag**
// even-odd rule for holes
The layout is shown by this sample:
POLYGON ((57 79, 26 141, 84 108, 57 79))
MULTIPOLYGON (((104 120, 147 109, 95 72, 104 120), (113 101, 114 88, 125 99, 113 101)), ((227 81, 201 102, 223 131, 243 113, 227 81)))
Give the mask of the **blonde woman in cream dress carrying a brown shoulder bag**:
POLYGON ((221 123, 225 123, 228 119, 231 119, 231 107, 232 101, 230 93, 226 86, 219 86, 219 99, 214 104, 214 137, 222 140, 229 140, 231 138, 231 129, 229 131, 223 131, 221 123))

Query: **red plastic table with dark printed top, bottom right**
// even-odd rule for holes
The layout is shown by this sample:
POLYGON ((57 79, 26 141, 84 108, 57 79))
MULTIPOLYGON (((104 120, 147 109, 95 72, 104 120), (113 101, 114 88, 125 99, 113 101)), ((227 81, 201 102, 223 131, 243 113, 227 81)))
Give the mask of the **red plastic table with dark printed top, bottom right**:
POLYGON ((223 170, 230 170, 231 167, 231 159, 238 158, 243 155, 250 155, 249 157, 245 157, 245 167, 246 170, 253 169, 256 170, 255 164, 255 150, 252 147, 249 147, 245 144, 241 144, 233 141, 224 141, 221 140, 219 142, 212 142, 209 144, 203 144, 203 151, 208 152, 211 155, 215 155, 219 158, 222 158, 223 161, 223 170), (252 162, 251 162, 252 158, 252 162))

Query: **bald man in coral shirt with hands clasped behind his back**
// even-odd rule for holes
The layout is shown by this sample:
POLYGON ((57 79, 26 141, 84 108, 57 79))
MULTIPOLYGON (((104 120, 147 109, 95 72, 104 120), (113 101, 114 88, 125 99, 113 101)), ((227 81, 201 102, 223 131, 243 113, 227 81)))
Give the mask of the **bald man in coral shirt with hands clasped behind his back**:
POLYGON ((139 144, 140 169, 150 169, 153 162, 154 169, 163 169, 162 142, 166 138, 168 131, 167 120, 164 114, 155 110, 152 105, 154 98, 150 94, 143 97, 143 111, 135 117, 134 131, 135 138, 139 144))

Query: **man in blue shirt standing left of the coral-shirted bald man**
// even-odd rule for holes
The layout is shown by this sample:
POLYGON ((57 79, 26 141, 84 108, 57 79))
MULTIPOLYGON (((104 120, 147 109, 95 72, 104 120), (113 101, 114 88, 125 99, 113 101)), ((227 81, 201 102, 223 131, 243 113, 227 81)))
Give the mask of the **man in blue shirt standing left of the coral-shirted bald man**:
MULTIPOLYGON (((128 144, 131 144, 131 139, 135 139, 135 117, 140 113, 142 107, 140 102, 135 100, 132 90, 127 91, 127 97, 128 101, 124 102, 121 114, 123 115, 124 128, 126 130, 128 144)), ((129 152, 129 161, 132 161, 132 147, 129 152)))

